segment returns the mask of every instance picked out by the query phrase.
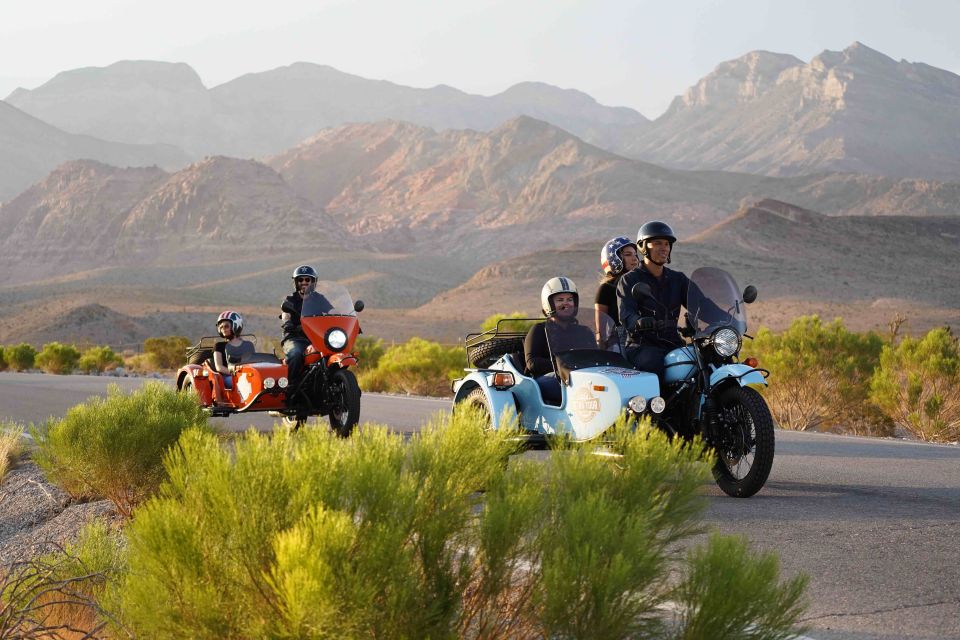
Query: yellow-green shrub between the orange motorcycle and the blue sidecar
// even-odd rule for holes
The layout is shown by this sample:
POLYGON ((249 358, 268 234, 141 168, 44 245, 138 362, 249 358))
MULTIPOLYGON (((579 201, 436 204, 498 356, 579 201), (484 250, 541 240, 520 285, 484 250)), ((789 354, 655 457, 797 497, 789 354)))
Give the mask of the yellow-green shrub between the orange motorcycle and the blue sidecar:
POLYGON ((387 349, 375 368, 362 372, 360 386, 369 391, 445 396, 465 365, 462 348, 411 338, 387 349))

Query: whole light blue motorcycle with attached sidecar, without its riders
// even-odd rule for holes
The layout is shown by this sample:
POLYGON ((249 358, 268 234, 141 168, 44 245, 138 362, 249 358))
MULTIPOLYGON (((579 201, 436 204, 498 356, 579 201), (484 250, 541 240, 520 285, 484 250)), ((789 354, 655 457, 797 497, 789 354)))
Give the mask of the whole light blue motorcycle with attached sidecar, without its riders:
MULTIPOLYGON (((668 312, 656 308, 642 284, 631 294, 657 316, 668 312)), ((750 497, 766 483, 775 448, 773 418, 758 392, 769 372, 755 358, 740 358, 743 338, 750 337, 746 305, 756 297, 753 286, 741 294, 722 269, 694 271, 681 331, 688 341, 667 352, 662 386, 656 375, 633 369, 620 355, 609 317, 600 314, 594 323, 585 317, 593 310, 578 315, 576 324, 593 328, 596 340, 548 320, 547 342, 560 380, 557 404, 545 402, 537 381, 524 373, 524 333, 502 330, 510 321, 501 321, 492 331, 467 337, 467 357, 476 368, 454 381, 454 404, 480 407, 494 429, 517 416, 531 446, 546 445, 554 435, 591 440, 623 411, 649 415, 671 436, 703 438, 716 456, 717 486, 727 495, 750 497)))

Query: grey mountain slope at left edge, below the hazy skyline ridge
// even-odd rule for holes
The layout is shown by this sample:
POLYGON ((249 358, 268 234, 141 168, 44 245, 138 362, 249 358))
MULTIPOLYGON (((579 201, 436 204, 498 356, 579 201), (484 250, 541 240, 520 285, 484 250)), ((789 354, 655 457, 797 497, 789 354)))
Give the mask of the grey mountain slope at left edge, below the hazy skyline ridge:
POLYGON ((168 169, 188 162, 185 153, 170 145, 108 142, 67 133, 0 101, 0 202, 42 180, 58 165, 77 158, 168 169))

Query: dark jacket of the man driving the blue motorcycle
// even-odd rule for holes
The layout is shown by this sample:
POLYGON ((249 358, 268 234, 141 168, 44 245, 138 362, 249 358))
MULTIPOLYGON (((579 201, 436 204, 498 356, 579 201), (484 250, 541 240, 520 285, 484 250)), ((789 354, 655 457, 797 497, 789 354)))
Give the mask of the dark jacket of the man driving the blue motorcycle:
POLYGON ((636 269, 625 273, 617 284, 617 300, 620 303, 620 323, 627 331, 627 346, 683 346, 683 340, 677 333, 677 323, 680 319, 680 307, 687 304, 689 288, 690 279, 685 274, 666 267, 660 278, 647 271, 647 266, 642 263, 636 269), (644 298, 637 302, 633 299, 630 290, 638 282, 650 285, 656 301, 644 298), (637 322, 642 317, 662 320, 664 326, 660 330, 639 331, 637 322))

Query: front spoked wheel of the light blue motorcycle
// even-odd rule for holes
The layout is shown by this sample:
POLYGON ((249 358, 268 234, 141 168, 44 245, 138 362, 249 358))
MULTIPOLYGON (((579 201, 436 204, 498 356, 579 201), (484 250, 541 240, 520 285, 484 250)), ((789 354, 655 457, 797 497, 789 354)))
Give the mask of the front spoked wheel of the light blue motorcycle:
POLYGON ((773 418, 763 396, 734 387, 720 397, 720 433, 713 477, 729 496, 749 498, 773 467, 773 418))

